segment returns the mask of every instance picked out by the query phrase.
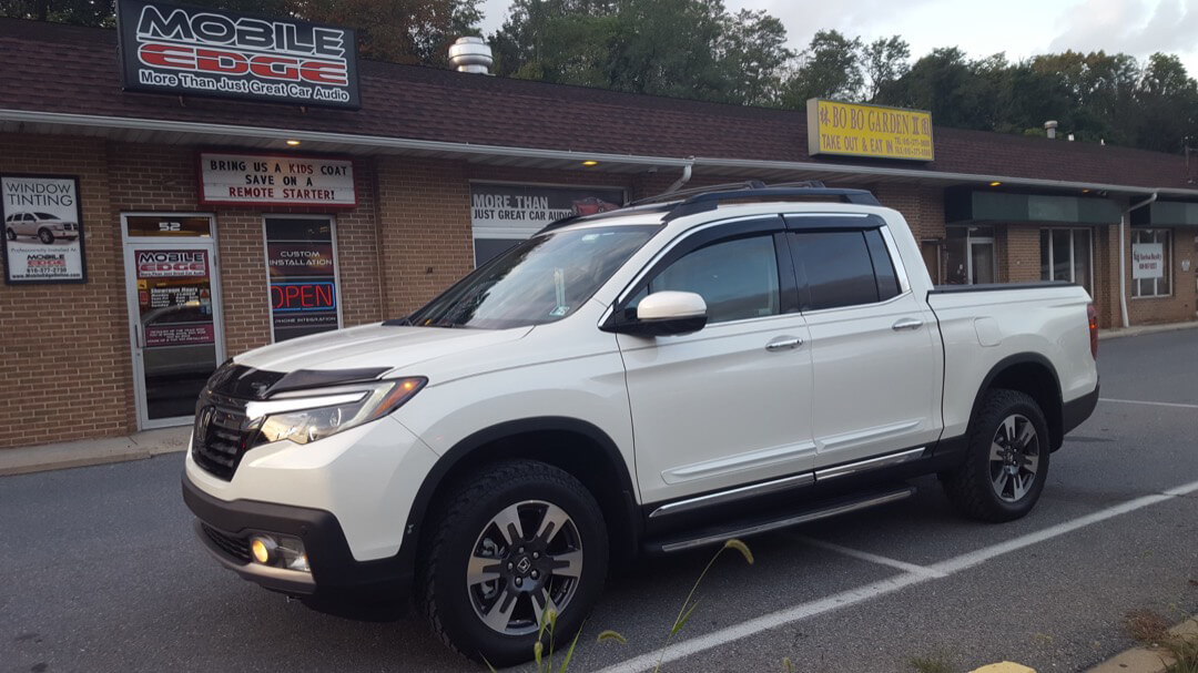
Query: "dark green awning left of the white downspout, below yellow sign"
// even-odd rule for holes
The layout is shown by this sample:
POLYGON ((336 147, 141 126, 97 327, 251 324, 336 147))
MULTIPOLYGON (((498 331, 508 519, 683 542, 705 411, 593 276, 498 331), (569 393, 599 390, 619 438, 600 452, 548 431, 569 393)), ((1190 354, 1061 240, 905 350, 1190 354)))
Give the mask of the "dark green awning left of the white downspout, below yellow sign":
POLYGON ((955 189, 944 195, 945 222, 1061 224, 1119 224, 1119 206, 1099 196, 1012 194, 955 189))

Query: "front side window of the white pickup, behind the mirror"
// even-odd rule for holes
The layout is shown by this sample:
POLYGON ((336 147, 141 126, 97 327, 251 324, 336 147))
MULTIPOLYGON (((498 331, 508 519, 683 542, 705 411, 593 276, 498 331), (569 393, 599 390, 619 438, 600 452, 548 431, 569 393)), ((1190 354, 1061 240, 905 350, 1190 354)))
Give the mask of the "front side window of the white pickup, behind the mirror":
MULTIPOLYGON (((695 292, 707 303, 708 325, 778 315, 781 292, 772 235, 720 241, 661 269, 648 292, 695 292)), ((637 293, 634 305, 646 296, 637 293)))

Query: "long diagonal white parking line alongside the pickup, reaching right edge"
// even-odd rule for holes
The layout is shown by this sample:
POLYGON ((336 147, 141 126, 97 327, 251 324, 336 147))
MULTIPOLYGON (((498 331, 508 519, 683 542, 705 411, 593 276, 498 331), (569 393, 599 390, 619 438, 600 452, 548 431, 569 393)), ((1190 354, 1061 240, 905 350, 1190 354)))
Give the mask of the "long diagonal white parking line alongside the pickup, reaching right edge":
MULTIPOLYGON (((1094 514, 1075 519, 1072 521, 1066 521, 1064 523, 1058 523, 1057 526, 1051 526, 1043 530, 1037 530, 1035 533, 1029 533, 1027 535, 1021 535, 1014 538, 1005 542, 999 542, 988 547, 984 547, 975 552, 961 554, 958 557, 950 558, 948 560, 942 560, 936 565, 924 568, 924 570, 932 570, 939 572, 942 576, 950 576, 968 568, 973 568, 980 563, 990 560, 992 558, 1010 553, 1016 550, 1021 550, 1029 545, 1036 542, 1042 542, 1045 540, 1064 535, 1078 528, 1099 523, 1100 521, 1106 521, 1108 519, 1129 514, 1145 507, 1169 501, 1180 496, 1186 496, 1198 491, 1198 481, 1191 484, 1184 484, 1174 489, 1169 489, 1163 493, 1144 496, 1136 498, 1133 501, 1125 502, 1107 509, 1099 510, 1094 514)), ((855 550, 851 550, 855 551, 855 550)), ((865 552, 861 552, 865 553, 865 552)), ((872 556, 872 554, 871 554, 872 556)), ((884 558, 884 557, 882 557, 884 558)), ((893 559, 887 559, 893 560, 893 559)), ((740 638, 746 638, 766 631, 769 629, 776 629, 779 626, 785 626, 787 624, 793 624, 795 622, 806 619, 809 617, 815 617, 817 614, 823 614, 825 612, 831 612, 841 607, 848 607, 851 605, 857 605, 865 602, 887 594, 897 592, 906 587, 912 587, 915 584, 922 584, 924 582, 931 582, 936 580, 937 576, 932 574, 920 574, 915 571, 907 571, 894 577, 888 577, 878 582, 872 582, 865 584, 864 587, 858 587, 855 589, 848 589, 839 594, 833 594, 827 598, 822 598, 815 601, 800 604, 786 610, 780 610, 770 614, 764 614, 750 619, 748 622, 742 622, 732 626, 726 626, 710 633, 703 633, 702 636, 696 636, 694 638, 688 638, 685 641, 678 641, 671 644, 666 651, 652 651, 642 654, 619 663, 615 663, 600 671, 600 673, 641 673, 642 671, 649 671, 658 665, 660 660, 662 663, 670 661, 677 661, 679 659, 690 656, 692 654, 698 654, 740 638)))

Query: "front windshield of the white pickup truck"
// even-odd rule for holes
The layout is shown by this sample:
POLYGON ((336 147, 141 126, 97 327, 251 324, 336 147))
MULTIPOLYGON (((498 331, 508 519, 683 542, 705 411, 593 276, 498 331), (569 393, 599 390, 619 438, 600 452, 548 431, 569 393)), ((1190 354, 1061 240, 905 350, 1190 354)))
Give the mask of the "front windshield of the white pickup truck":
POLYGON ((405 322, 503 329, 562 320, 659 229, 616 225, 534 236, 474 269, 405 322))

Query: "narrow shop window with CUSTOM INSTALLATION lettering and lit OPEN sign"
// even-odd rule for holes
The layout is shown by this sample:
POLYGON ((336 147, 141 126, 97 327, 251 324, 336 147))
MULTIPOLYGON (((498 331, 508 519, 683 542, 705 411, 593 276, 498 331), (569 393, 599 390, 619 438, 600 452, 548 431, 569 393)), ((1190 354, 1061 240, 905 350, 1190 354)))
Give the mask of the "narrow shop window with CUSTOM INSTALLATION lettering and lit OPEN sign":
POLYGON ((332 219, 268 218, 266 266, 276 341, 340 328, 332 219))

